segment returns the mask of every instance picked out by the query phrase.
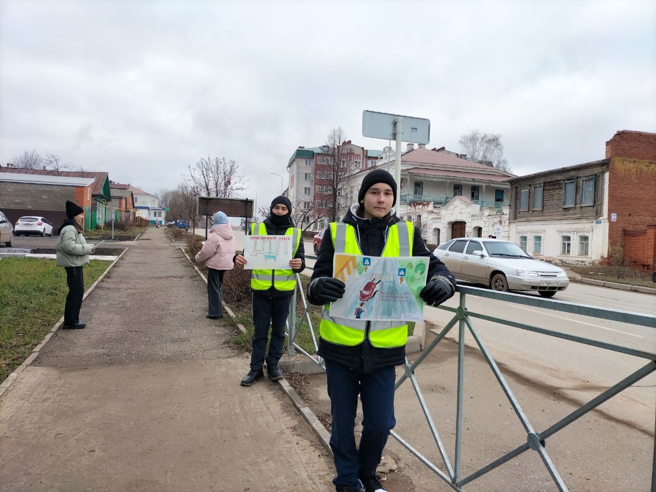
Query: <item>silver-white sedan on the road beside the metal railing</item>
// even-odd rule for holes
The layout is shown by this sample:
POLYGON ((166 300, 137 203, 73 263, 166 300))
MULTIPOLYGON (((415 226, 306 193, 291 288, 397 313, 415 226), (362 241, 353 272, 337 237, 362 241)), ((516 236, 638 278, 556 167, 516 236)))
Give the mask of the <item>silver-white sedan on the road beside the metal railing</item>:
POLYGON ((537 291, 552 297, 569 285, 565 270, 536 260, 515 243, 501 239, 460 237, 435 250, 458 279, 488 285, 495 291, 537 291))

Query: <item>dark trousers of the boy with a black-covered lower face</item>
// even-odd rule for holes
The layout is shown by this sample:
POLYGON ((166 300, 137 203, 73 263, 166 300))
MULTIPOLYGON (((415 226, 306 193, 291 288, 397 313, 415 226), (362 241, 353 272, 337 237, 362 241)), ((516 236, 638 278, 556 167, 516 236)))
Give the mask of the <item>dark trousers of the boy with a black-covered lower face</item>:
POLYGON ((283 356, 285 347, 285 320, 289 312, 291 296, 268 297, 253 294, 253 350, 251 351, 251 369, 258 371, 264 365, 266 339, 271 324, 271 341, 266 356, 266 367, 277 365, 283 356))

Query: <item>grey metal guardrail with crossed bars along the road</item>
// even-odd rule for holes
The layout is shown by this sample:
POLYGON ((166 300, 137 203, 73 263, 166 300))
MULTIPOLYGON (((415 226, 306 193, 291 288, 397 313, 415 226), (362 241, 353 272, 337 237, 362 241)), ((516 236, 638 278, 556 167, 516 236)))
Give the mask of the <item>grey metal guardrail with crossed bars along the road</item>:
MULTIPOLYGON (((316 259, 316 256, 306 256, 306 258, 316 259)), ((311 267, 307 267, 307 268, 311 268, 311 267)), ((297 286, 298 285, 301 285, 299 274, 297 274, 297 286)), ((301 322, 300 325, 298 326, 296 325, 296 295, 297 295, 296 290, 294 291, 292 303, 289 310, 289 316, 287 318, 287 329, 288 329, 287 335, 289 337, 289 344, 288 344, 289 355, 293 355, 295 353, 295 350, 298 350, 304 356, 306 356, 314 363, 316 363, 319 367, 325 370, 325 363, 323 359, 321 359, 319 356, 317 356, 316 358, 313 357, 311 354, 308 354, 308 352, 300 348, 300 346, 298 346, 295 343, 296 337, 298 335, 298 331, 305 323, 305 321, 307 321, 308 326, 310 328, 310 333, 312 334, 312 340, 314 342, 315 350, 318 349, 316 333, 314 331, 314 327, 312 326, 312 319, 310 319, 310 306, 308 305, 308 302, 305 298, 303 289, 300 289, 300 291, 301 291, 301 297, 304 306, 304 312, 302 315, 303 321, 301 322)), ((417 451, 415 447, 413 447, 410 443, 408 443, 403 438, 401 438, 401 436, 396 432, 392 431, 391 433, 392 437, 394 437, 401 445, 403 445, 405 449, 410 451, 410 453, 415 455, 415 457, 417 457, 419 461, 421 461, 426 467, 432 470, 432 472, 438 475, 453 490, 458 492, 464 492, 464 489, 462 489, 464 485, 473 482, 474 480, 480 478, 487 472, 490 472, 491 470, 494 470, 498 466, 501 466, 501 464, 504 464, 505 462, 518 457, 528 449, 536 451, 539 454, 540 458, 544 463, 544 466, 546 466, 546 469, 548 470, 552 480, 556 484, 556 487, 558 487, 558 491, 567 492, 568 489, 567 486, 565 485, 564 480, 558 473, 558 470, 556 470, 556 466, 554 466, 554 463, 549 458, 548 453, 546 453, 545 446, 546 446, 547 438, 550 438, 551 436, 556 434, 556 432, 558 432, 559 430, 562 430, 563 428, 565 428, 572 422, 575 422, 575 420, 580 419, 581 417, 583 417, 583 415, 586 415, 586 413, 592 411, 593 409, 595 409, 605 401, 609 400, 610 398, 619 394, 626 388, 640 381, 647 375, 656 371, 656 354, 651 352, 645 352, 643 350, 636 350, 634 348, 619 346, 616 344, 601 342, 600 340, 594 340, 592 338, 579 337, 577 335, 570 335, 569 333, 562 333, 551 329, 536 327, 526 323, 508 321, 506 319, 495 318, 493 316, 487 316, 486 314, 473 312, 466 308, 466 296, 475 295, 477 297, 485 297, 493 300, 510 302, 512 304, 534 306, 537 308, 544 308, 552 311, 559 311, 559 312, 566 312, 569 314, 588 316, 590 318, 607 319, 610 321, 619 321, 621 323, 630 323, 632 325, 639 325, 639 326, 645 326, 650 328, 656 328, 656 316, 651 316, 647 314, 638 314, 628 311, 610 310, 606 308, 596 308, 594 306, 586 306, 584 304, 575 304, 573 302, 564 302, 564 301, 552 300, 552 299, 542 299, 542 298, 531 297, 521 294, 489 291, 487 289, 480 289, 478 287, 466 287, 466 286, 459 285, 456 291, 460 296, 460 302, 457 308, 439 306, 441 310, 453 312, 455 316, 453 316, 453 318, 449 321, 449 323, 447 323, 447 325, 442 329, 440 334, 430 343, 430 345, 424 348, 420 356, 412 364, 410 364, 407 361, 407 359, 405 359, 405 365, 404 365, 405 372, 400 377, 400 379, 396 382, 397 390, 401 386, 401 384, 403 384, 403 382, 405 382, 406 380, 409 380, 411 382, 413 386, 413 390, 415 390, 415 394, 417 395, 417 399, 419 400, 419 404, 422 409, 422 412, 424 413, 424 417, 428 424, 430 434, 432 435, 432 438, 435 441, 436 446, 438 447, 438 451, 440 452, 443 468, 445 468, 446 472, 443 472, 440 468, 438 468, 436 464, 434 464, 429 459, 424 457, 424 455, 419 453, 419 451, 417 451), (646 365, 638 369, 638 371, 635 371, 625 379, 617 382, 617 384, 605 390, 604 392, 596 396, 596 398, 593 398, 592 400, 588 401, 584 405, 581 405, 581 407, 571 412, 563 419, 558 420, 558 422, 555 422, 554 424, 552 424, 552 426, 546 428, 541 432, 537 432, 531 425, 531 422, 529 422, 529 419, 527 418, 525 413, 523 412, 522 407, 518 402, 518 400, 515 398, 510 386, 508 385, 508 382, 501 374, 501 371, 499 371, 499 367, 497 367, 497 363, 495 362, 494 358, 491 356, 491 354, 485 347, 485 344, 483 344, 482 338, 480 337, 478 331, 476 331, 474 325, 472 324, 472 318, 485 319, 486 321, 493 321, 495 323, 500 323, 502 325, 515 327, 526 331, 532 331, 533 333, 539 333, 541 335, 546 335, 549 337, 561 338, 562 340, 568 340, 570 342, 577 342, 597 348, 603 348, 605 350, 611 350, 613 352, 619 352, 621 354, 644 358, 647 359, 648 362, 646 363, 646 365), (454 462, 452 465, 451 461, 449 461, 447 451, 440 439, 440 434, 438 433, 434 420, 430 415, 430 410, 426 405, 426 401, 424 400, 424 397, 422 395, 421 388, 419 387, 419 383, 415 378, 415 371, 421 365, 422 361, 424 361, 424 359, 426 359, 430 355, 430 353, 436 348, 436 346, 438 346, 441 340, 445 338, 445 336, 449 333, 449 331, 451 331, 451 329, 455 327, 456 323, 458 324, 458 330, 459 330, 458 371, 457 371, 458 386, 457 386, 455 455, 454 455, 454 462), (483 357, 487 361, 492 372, 494 373, 497 382, 499 382, 499 385, 501 386, 504 394, 506 395, 506 398, 508 398, 508 401, 510 401, 510 405, 512 406, 512 409, 514 409, 514 412, 516 413, 518 419, 522 423, 522 426, 526 432, 526 441, 521 445, 519 445, 518 447, 516 447, 515 449, 512 449, 512 451, 509 451, 505 455, 499 457, 495 461, 490 462, 489 464, 483 466, 476 472, 473 472, 472 474, 466 477, 462 477, 461 463, 462 463, 462 413, 463 413, 462 394, 463 394, 463 387, 464 387, 464 346, 465 346, 464 335, 467 330, 470 331, 472 337, 474 337, 474 340, 476 341, 478 348, 480 349, 483 357)), ((656 492, 656 436, 654 438, 654 462, 651 470, 651 491, 656 492)))

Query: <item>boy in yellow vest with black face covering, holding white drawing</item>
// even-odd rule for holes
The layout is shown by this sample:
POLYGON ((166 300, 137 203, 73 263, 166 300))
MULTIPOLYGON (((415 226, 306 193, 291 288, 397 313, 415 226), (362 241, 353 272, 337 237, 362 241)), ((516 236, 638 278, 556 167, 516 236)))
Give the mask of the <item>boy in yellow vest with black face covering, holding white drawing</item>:
MULTIPOLYGON (((285 196, 278 196, 271 202, 269 216, 264 222, 252 224, 249 231, 262 236, 291 236, 293 255, 289 268, 276 270, 253 270, 251 291, 253 292, 253 350, 251 350, 251 370, 241 380, 241 386, 251 386, 264 378, 264 351, 271 324, 271 341, 266 355, 266 372, 272 380, 283 379, 278 361, 283 355, 285 343, 285 320, 289 304, 296 287, 296 274, 305 268, 305 253, 300 229, 291 220, 291 202, 285 196)), ((235 264, 243 266, 248 260, 243 255, 235 255, 235 264)))

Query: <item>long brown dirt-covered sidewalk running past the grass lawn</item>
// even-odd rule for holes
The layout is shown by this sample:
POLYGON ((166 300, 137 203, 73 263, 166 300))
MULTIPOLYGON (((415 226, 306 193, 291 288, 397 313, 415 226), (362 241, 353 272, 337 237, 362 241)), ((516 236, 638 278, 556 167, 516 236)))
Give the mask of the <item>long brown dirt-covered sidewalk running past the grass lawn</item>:
POLYGON ((16 491, 330 490, 331 456, 246 354, 164 229, 151 228, 0 399, 16 491))

